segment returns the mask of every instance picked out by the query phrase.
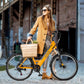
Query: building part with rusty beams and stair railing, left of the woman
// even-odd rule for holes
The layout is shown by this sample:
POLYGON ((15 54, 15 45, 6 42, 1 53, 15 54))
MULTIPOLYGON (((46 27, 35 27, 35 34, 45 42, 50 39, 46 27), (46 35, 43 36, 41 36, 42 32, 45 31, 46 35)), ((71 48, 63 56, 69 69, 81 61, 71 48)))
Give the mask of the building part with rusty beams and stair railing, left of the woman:
POLYGON ((52 4, 52 0, 0 0, 1 43, 5 56, 9 56, 17 39, 20 42, 27 39, 45 4, 52 4))

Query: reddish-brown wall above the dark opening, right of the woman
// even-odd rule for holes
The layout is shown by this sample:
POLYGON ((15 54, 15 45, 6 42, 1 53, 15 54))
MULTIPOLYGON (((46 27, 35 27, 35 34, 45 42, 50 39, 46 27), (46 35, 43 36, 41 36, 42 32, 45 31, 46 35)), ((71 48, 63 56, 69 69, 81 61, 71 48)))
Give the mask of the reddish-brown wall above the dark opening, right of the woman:
MULTIPOLYGON (((58 3, 56 6, 56 14, 58 14, 58 3)), ((62 26, 60 30, 68 30, 69 27, 76 28, 76 0, 59 0, 59 26, 62 26), (72 25, 71 22, 75 24, 72 25), (71 25, 66 26, 67 24, 71 25)))

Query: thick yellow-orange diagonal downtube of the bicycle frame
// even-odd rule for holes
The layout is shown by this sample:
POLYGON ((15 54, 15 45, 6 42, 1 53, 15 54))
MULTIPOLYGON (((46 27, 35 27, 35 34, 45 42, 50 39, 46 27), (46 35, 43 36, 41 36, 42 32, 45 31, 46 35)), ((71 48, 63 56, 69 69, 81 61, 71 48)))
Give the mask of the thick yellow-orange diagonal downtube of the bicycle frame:
POLYGON ((37 65, 39 65, 40 67, 42 66, 42 64, 44 63, 44 61, 48 58, 49 54, 52 52, 53 49, 56 49, 57 47, 55 46, 55 42, 52 41, 49 49, 47 50, 47 52, 44 54, 43 58, 41 60, 38 61, 37 65))

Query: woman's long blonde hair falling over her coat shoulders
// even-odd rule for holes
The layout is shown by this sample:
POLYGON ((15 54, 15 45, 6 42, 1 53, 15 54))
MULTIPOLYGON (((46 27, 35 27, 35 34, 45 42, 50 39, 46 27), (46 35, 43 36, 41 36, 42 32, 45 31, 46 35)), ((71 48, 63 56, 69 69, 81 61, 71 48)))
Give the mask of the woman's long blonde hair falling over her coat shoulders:
MULTIPOLYGON (((44 7, 46 7, 49 11, 50 11, 50 14, 48 14, 48 18, 49 18, 49 28, 51 28, 52 27, 52 8, 51 8, 51 6, 49 5, 49 4, 47 4, 47 5, 44 5, 43 6, 43 8, 44 7)), ((45 15, 42 15, 42 19, 43 19, 43 25, 45 24, 45 22, 44 22, 44 17, 45 17, 45 15)))

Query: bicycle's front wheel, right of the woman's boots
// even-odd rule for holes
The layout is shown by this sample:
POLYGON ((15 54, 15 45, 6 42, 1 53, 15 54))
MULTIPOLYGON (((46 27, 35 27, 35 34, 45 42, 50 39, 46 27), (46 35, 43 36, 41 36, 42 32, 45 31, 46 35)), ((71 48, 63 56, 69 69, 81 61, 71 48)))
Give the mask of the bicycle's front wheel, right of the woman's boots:
POLYGON ((69 80, 78 71, 77 60, 69 54, 54 56, 50 64, 52 74, 59 80, 69 80))

